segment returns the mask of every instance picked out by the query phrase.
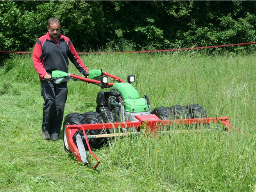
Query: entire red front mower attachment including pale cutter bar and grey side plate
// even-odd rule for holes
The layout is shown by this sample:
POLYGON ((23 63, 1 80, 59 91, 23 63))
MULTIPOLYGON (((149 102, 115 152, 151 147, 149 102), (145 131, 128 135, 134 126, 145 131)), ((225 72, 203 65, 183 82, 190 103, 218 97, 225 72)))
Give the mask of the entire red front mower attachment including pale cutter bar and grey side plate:
MULTIPOLYGON (((136 115, 135 116, 138 121, 125 121, 121 123, 98 123, 98 124, 79 124, 79 125, 66 125, 65 127, 65 135, 66 135, 66 144, 68 145, 69 150, 73 153, 75 158, 83 162, 84 164, 88 164, 86 160, 86 149, 82 143, 82 140, 77 139, 76 143, 73 141, 73 136, 77 131, 82 131, 83 136, 80 139, 85 139, 87 148, 91 155, 97 160, 97 164, 92 167, 95 169, 100 164, 100 160, 95 156, 95 154, 91 151, 90 144, 88 139, 100 138, 100 137, 116 137, 116 136, 126 136, 131 134, 140 134, 140 128, 143 126, 147 128, 147 132, 159 132, 161 131, 161 126, 165 125, 179 125, 179 124, 208 124, 208 123, 222 123, 226 128, 225 130, 231 130, 233 128, 230 125, 229 117, 212 117, 212 118, 197 118, 197 119, 172 119, 172 120, 161 120, 156 115, 136 115), (109 133, 109 134, 101 134, 101 135, 86 135, 86 130, 106 130, 113 128, 136 128, 138 132, 124 132, 124 133, 109 133)), ((201 130, 172 130, 165 131, 170 133, 181 133, 181 132, 200 132, 201 130)), ((79 137, 77 137, 79 138, 79 137)), ((64 141, 65 142, 65 141, 64 141)))

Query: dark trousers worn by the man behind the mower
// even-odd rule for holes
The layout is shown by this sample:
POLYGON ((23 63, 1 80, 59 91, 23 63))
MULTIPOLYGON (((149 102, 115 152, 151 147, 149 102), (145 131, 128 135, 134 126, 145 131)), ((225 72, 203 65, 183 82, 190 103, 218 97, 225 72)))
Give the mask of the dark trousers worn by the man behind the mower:
POLYGON ((51 138, 58 138, 64 115, 64 107, 68 96, 67 82, 55 84, 41 81, 43 103, 43 132, 48 131, 51 138))

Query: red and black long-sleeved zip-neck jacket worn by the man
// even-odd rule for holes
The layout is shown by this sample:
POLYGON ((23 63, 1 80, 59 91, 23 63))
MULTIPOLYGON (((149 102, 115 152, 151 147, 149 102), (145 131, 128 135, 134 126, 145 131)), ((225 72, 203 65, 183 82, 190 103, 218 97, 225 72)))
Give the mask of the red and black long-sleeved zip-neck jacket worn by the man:
POLYGON ((84 66, 70 39, 61 34, 59 34, 57 42, 50 37, 49 32, 40 37, 36 41, 32 57, 40 80, 47 73, 52 75, 54 70, 68 73, 68 59, 70 59, 79 72, 88 73, 88 69, 84 66))

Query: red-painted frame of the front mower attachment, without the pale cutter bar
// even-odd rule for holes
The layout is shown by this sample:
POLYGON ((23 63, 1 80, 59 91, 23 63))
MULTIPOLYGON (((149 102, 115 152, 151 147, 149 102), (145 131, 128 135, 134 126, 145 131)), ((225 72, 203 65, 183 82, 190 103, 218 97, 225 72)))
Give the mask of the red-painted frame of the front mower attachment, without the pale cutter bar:
POLYGON ((230 125, 229 117, 211 117, 211 118, 199 118, 199 119, 173 119, 173 120, 161 120, 156 115, 145 115, 145 116, 135 116, 139 121, 125 121, 121 123, 98 123, 98 124, 81 124, 81 125, 66 125, 66 137, 68 142, 68 148, 73 153, 75 158, 82 162, 79 150, 75 143, 73 142, 73 135, 78 131, 82 130, 86 140, 88 150, 91 155, 97 160, 97 164, 93 169, 97 168, 100 164, 100 160, 97 156, 91 151, 90 144, 86 137, 85 130, 93 129, 112 129, 112 128, 127 128, 127 127, 136 127, 140 132, 141 125, 149 127, 147 131, 157 132, 161 125, 171 125, 171 124, 204 124, 204 123, 222 123, 226 129, 231 130, 233 128, 230 125))

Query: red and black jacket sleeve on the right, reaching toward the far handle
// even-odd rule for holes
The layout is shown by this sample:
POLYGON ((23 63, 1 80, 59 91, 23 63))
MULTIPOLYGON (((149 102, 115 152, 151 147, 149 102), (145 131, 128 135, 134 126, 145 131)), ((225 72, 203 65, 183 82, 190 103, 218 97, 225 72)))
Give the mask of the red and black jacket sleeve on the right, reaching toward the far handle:
POLYGON ((68 53, 68 58, 75 65, 77 70, 81 73, 84 73, 84 72, 88 73, 88 69, 86 68, 86 66, 82 62, 81 58, 77 54, 77 52, 76 52, 73 44, 71 43, 70 39, 68 39, 68 48, 70 50, 70 52, 68 53))

